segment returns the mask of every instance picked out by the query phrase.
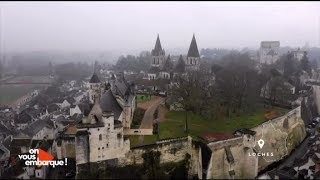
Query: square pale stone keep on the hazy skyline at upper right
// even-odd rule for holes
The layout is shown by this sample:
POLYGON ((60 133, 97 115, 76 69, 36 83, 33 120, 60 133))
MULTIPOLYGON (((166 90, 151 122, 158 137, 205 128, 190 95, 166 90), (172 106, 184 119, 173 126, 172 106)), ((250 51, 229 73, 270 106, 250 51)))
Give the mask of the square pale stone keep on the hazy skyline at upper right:
POLYGON ((273 64, 279 60, 280 41, 262 41, 259 59, 262 64, 273 64))

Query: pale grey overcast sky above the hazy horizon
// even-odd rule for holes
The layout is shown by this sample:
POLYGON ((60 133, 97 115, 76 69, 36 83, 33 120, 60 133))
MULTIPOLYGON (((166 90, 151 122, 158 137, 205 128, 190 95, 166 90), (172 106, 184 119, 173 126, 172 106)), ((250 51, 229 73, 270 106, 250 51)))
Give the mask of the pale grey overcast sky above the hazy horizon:
POLYGON ((2 51, 320 46, 320 2, 0 2, 2 51))

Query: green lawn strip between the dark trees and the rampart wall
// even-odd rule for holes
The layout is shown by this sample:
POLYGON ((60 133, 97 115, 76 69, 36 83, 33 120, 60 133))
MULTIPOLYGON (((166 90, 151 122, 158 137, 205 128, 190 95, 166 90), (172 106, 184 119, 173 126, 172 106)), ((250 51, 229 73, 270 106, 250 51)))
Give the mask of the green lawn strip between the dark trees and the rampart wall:
MULTIPOLYGON (((253 128, 267 120, 264 114, 270 110, 261 106, 256 112, 219 120, 205 119, 200 115, 189 112, 189 132, 190 135, 197 136, 203 133, 233 132, 240 128, 253 128)), ((278 107, 275 107, 274 110, 281 114, 289 111, 278 107)), ((160 123, 160 139, 186 136, 184 122, 185 112, 169 111, 166 114, 166 120, 160 123)))

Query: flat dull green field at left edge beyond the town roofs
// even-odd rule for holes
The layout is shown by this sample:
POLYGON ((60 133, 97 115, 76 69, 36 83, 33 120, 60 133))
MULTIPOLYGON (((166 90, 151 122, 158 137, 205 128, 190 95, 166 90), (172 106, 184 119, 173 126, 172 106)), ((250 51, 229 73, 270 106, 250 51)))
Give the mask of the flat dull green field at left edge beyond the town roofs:
POLYGON ((16 101, 20 97, 37 89, 39 85, 0 85, 0 104, 16 101))

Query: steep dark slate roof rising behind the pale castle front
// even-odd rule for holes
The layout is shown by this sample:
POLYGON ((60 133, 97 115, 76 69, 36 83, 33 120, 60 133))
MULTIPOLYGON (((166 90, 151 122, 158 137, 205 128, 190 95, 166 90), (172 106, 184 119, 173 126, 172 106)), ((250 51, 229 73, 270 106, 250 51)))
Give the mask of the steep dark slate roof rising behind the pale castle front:
POLYGON ((100 99, 100 107, 102 112, 113 112, 115 120, 119 120, 122 107, 112 94, 111 90, 105 92, 100 99))

